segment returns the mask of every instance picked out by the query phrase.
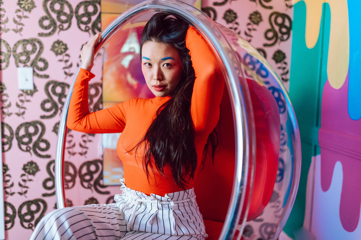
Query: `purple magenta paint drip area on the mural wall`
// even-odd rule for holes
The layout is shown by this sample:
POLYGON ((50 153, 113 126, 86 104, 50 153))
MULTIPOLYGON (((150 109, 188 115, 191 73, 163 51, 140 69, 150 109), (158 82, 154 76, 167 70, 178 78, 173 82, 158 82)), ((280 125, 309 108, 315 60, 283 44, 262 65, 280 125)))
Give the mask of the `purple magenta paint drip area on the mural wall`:
POLYGON ((340 161, 342 164, 340 221, 346 231, 353 232, 360 219, 361 121, 352 120, 348 115, 348 83, 348 74, 340 89, 334 89, 329 81, 326 81, 322 93, 318 141, 321 147, 323 191, 330 188, 336 162, 340 161))

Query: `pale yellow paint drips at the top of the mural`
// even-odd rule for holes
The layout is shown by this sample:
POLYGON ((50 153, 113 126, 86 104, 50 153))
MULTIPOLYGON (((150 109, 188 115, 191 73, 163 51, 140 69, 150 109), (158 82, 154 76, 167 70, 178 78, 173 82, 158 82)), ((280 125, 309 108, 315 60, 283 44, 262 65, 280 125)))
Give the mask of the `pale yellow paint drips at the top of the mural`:
MULTIPOLYGON (((297 3, 301 0, 294 0, 297 3)), ((349 27, 347 0, 302 0, 306 4, 306 46, 316 45, 322 16, 322 4, 331 9, 330 44, 327 75, 332 87, 339 89, 345 82, 349 64, 349 27)))

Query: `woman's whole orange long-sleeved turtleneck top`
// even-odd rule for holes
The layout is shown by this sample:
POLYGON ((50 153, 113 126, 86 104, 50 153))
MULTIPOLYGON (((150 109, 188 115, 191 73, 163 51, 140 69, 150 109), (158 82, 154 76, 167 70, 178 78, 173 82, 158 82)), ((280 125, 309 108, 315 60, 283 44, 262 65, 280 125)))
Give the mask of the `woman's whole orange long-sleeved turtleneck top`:
MULTIPOLYGON (((195 83, 191 99, 191 117, 195 130, 197 169, 201 163, 204 145, 219 119, 224 78, 212 50, 201 34, 190 27, 186 36, 186 46, 190 50, 192 66, 195 71, 195 83)), ((81 69, 74 84, 71 96, 68 128, 86 133, 119 133, 117 153, 124 166, 125 184, 131 189, 150 195, 164 196, 167 193, 181 191, 174 182, 170 167, 164 167, 164 175, 158 171, 149 171, 149 182, 145 174, 142 156, 132 150, 142 139, 158 108, 170 96, 152 99, 131 99, 97 112, 89 113, 88 82, 95 75, 81 69)), ((143 153, 142 149, 138 150, 143 153)), ((186 189, 193 187, 193 182, 186 189)))

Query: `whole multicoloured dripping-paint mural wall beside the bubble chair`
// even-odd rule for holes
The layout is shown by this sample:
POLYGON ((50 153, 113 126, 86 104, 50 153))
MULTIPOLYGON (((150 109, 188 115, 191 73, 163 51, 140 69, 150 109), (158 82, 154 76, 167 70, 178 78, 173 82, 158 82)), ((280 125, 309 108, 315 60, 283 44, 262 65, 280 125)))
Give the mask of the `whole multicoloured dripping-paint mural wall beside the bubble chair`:
POLYGON ((303 175, 285 231, 296 239, 302 225, 317 240, 360 238, 359 7, 358 1, 295 1, 290 98, 303 175))

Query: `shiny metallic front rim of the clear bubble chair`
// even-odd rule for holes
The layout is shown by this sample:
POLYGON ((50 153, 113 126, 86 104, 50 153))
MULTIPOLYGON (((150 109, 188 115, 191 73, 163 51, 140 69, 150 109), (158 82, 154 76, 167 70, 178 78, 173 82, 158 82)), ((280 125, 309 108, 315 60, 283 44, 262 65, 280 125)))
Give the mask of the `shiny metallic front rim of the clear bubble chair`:
MULTIPOLYGON (((235 117, 236 171, 234 175, 233 189, 227 211, 227 217, 225 219, 225 224, 223 225, 222 233, 219 239, 232 239, 235 233, 235 228, 238 226, 240 213, 245 201, 246 191, 244 191, 244 188, 247 186, 248 181, 248 163, 250 156, 254 157, 254 154, 250 153, 253 152, 253 147, 255 145, 253 143, 254 137, 251 136, 254 134, 254 131, 250 129, 253 125, 248 123, 249 106, 247 107, 247 113, 244 100, 244 98, 248 97, 248 89, 241 89, 239 85, 239 77, 236 71, 237 67, 238 69, 241 68, 238 61, 235 62, 234 59, 236 59, 236 56, 217 25, 200 10, 194 8, 191 5, 175 0, 148 0, 119 15, 119 17, 116 18, 111 24, 109 24, 109 26, 106 27, 105 30, 101 33, 101 39, 95 47, 95 55, 99 52, 105 42, 114 33, 117 32, 118 29, 123 27, 126 23, 131 22, 132 19, 135 19, 136 17, 147 12, 167 12, 170 14, 177 14, 186 21, 192 23, 192 25, 202 33, 205 39, 208 40, 210 45, 213 47, 213 51, 218 55, 218 60, 223 62, 223 66, 221 67, 223 68, 223 73, 227 73, 225 78, 226 86, 230 92, 232 110, 235 117), (224 45, 225 43, 226 46, 224 45), (232 61, 231 58, 234 61, 232 61), (235 63, 238 65, 235 65, 235 63)), ((74 80, 69 87, 68 95, 66 96, 63 107, 61 121, 59 123, 57 151, 55 158, 55 192, 58 208, 65 207, 64 150, 67 132, 66 119, 68 116, 68 109, 71 94, 73 92, 73 86, 80 68, 81 65, 79 66, 78 71, 74 76, 74 80)), ((240 72, 243 74, 242 71, 240 72)))

